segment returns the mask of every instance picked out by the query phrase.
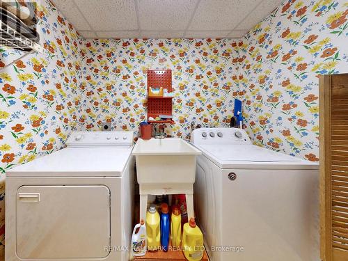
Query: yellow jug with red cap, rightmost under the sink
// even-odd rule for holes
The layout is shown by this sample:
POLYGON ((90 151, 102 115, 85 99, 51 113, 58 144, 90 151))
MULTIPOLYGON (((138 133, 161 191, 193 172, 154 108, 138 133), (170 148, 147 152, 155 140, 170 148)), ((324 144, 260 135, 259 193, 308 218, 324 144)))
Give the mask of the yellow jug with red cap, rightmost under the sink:
POLYGON ((189 223, 184 224, 184 234, 182 235, 182 249, 184 256, 189 261, 201 260, 203 258, 203 234, 196 226, 195 219, 191 218, 189 223))

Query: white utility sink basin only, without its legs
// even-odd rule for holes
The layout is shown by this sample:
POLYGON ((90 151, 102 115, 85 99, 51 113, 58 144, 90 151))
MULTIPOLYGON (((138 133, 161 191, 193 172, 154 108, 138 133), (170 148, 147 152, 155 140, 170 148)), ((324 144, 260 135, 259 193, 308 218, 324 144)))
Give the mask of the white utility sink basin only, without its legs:
POLYGON ((139 184, 162 184, 164 189, 170 187, 168 184, 193 184, 196 157, 200 154, 200 150, 179 138, 139 139, 132 152, 139 184))

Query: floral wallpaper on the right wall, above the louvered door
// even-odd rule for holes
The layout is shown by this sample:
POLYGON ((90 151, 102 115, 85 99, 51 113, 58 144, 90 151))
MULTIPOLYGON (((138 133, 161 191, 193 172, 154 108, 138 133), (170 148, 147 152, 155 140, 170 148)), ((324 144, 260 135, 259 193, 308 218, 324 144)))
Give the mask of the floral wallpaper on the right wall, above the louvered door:
POLYGON ((348 1, 287 0, 242 38, 240 88, 256 144, 319 160, 318 75, 348 72, 348 1))

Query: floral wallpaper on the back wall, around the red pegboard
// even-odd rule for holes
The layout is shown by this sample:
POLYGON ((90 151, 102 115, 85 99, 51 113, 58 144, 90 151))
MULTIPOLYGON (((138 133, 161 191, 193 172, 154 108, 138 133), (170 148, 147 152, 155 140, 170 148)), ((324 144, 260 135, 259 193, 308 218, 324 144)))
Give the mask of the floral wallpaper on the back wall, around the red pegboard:
POLYGON ((167 134, 189 139, 191 122, 227 125, 239 70, 235 47, 226 39, 86 40, 79 121, 86 129, 108 121, 137 134, 146 119, 146 70, 171 69, 175 124, 166 125, 167 134))

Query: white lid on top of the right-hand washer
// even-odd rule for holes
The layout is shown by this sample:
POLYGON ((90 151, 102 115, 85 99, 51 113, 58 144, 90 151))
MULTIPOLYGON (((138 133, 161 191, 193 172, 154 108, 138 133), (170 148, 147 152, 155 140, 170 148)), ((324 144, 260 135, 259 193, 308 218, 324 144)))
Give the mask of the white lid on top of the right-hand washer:
POLYGON ((200 145, 198 147, 221 161, 302 161, 302 159, 261 148, 257 145, 200 145))

